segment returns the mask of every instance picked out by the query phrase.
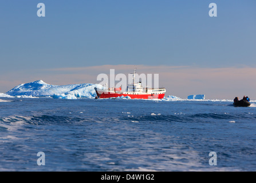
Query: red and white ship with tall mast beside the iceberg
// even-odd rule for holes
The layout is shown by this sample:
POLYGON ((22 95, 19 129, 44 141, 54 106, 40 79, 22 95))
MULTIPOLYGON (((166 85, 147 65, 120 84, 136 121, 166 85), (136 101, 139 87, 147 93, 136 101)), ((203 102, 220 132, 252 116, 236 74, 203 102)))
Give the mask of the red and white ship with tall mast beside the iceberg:
POLYGON ((99 89, 94 87, 96 91, 96 98, 116 98, 116 97, 130 97, 131 99, 162 99, 166 93, 165 88, 151 88, 148 86, 143 87, 141 82, 135 83, 136 69, 133 71, 132 83, 127 85, 125 92, 122 92, 121 87, 105 87, 99 89))

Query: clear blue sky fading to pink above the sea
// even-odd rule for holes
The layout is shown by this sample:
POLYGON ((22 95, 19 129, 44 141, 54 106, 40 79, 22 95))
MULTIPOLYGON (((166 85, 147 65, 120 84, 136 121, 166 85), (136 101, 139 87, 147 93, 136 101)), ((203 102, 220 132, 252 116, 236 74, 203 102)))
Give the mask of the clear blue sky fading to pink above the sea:
POLYGON ((167 95, 256 99, 255 0, 0 0, 0 92, 159 73, 167 95), (210 3, 217 17, 210 17, 210 3), (37 4, 45 4, 45 17, 37 4))

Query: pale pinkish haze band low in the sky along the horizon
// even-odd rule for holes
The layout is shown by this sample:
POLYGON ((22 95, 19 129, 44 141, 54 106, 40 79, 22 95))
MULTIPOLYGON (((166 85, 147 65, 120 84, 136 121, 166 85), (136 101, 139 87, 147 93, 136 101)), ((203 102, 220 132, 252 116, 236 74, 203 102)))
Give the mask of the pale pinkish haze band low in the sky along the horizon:
MULTIPOLYGON (((129 73, 133 72, 134 67, 135 65, 61 67, 36 70, 32 74, 23 75, 23 79, 19 80, 17 79, 19 73, 13 73, 10 77, 13 81, 6 83, 9 88, 6 88, 5 91, 9 91, 21 83, 37 80, 43 80, 51 85, 100 83, 97 81, 97 75, 101 73, 109 75, 109 70, 115 69, 115 74, 122 73, 128 76, 129 73)), ((159 74, 159 86, 166 87, 166 96, 187 98, 191 94, 205 94, 207 99, 233 99, 234 97, 241 98, 244 95, 251 99, 256 98, 254 93, 256 67, 200 68, 136 65, 136 68, 138 74, 159 74), (237 83, 237 85, 233 83, 237 83), (247 83, 251 84, 247 85, 247 83)))

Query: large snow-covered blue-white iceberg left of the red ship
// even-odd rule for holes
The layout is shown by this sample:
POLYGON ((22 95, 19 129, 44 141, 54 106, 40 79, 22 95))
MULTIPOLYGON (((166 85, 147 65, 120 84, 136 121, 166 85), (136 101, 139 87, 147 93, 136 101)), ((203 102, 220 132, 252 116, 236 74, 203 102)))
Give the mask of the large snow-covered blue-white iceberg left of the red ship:
POLYGON ((75 85, 49 85, 44 81, 34 81, 26 84, 21 84, 9 92, 10 96, 33 96, 33 97, 53 97, 76 99, 80 97, 95 98, 96 92, 94 87, 103 89, 103 86, 92 83, 82 83, 75 85))

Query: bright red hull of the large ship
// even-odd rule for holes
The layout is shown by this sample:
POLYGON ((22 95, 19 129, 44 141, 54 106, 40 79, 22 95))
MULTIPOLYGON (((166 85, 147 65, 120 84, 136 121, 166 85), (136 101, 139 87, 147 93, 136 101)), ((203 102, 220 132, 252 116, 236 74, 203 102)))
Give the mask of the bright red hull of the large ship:
POLYGON ((103 92, 103 91, 98 91, 96 90, 97 97, 98 98, 112 98, 112 97, 131 97, 132 99, 138 98, 138 99, 162 99, 164 98, 164 93, 163 94, 123 94, 123 93, 114 93, 114 92, 103 92))

